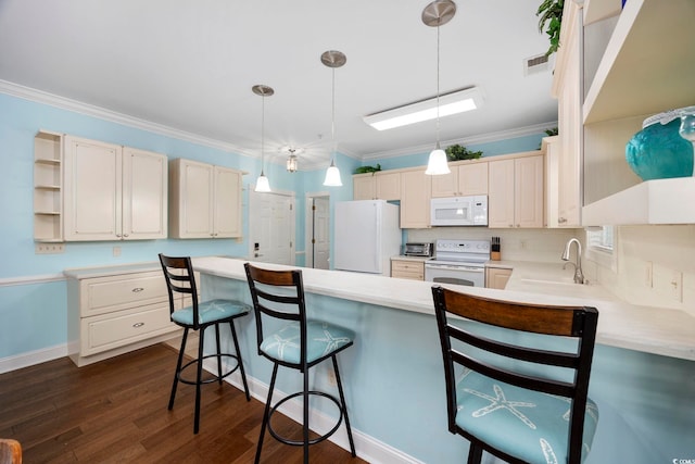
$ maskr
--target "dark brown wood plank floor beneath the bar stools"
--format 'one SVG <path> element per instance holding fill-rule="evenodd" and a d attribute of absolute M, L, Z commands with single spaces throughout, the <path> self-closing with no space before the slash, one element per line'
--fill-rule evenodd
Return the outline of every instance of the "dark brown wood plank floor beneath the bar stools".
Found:
<path fill-rule="evenodd" d="M 63 358 L 0 375 L 0 437 L 22 443 L 34 463 L 250 463 L 263 403 L 223 384 L 203 387 L 201 430 L 193 435 L 194 387 L 179 385 L 167 411 L 176 352 L 156 344 L 77 368 Z M 277 414 L 275 428 L 299 432 Z M 298 435 L 301 436 L 301 435 Z M 264 463 L 300 463 L 302 449 L 266 432 Z M 324 441 L 312 463 L 364 463 Z"/>

